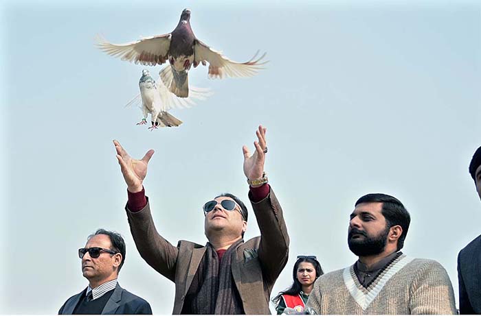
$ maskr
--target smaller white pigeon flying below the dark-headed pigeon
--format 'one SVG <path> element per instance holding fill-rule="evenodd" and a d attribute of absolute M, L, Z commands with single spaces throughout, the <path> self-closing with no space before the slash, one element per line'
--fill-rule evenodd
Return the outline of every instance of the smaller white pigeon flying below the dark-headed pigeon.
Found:
<path fill-rule="evenodd" d="M 170 71 L 170 66 L 161 72 L 167 73 Z M 142 71 L 142 77 L 139 80 L 140 94 L 135 96 L 126 106 L 139 103 L 142 100 L 142 113 L 144 117 L 137 125 L 144 125 L 147 123 L 148 114 L 150 114 L 150 121 L 152 126 L 149 130 L 155 130 L 160 127 L 172 127 L 181 125 L 182 121 L 169 114 L 167 111 L 171 108 L 190 108 L 195 104 L 194 99 L 203 100 L 212 92 L 207 88 L 191 87 L 191 94 L 187 98 L 180 98 L 171 93 L 161 80 L 155 82 L 150 72 L 146 69 Z"/>

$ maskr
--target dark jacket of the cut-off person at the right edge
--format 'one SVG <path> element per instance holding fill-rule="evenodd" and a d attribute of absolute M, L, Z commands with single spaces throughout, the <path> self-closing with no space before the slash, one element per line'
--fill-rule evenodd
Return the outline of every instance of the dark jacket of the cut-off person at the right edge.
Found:
<path fill-rule="evenodd" d="M 460 314 L 481 314 L 481 235 L 458 254 Z"/>

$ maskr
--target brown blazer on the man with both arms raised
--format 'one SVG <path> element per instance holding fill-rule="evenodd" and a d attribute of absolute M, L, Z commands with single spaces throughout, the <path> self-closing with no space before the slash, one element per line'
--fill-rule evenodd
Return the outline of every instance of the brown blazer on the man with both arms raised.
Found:
<path fill-rule="evenodd" d="M 269 297 L 274 282 L 287 263 L 289 235 L 282 208 L 272 189 L 265 199 L 251 204 L 260 236 L 238 245 L 237 260 L 232 262 L 232 276 L 244 312 L 270 314 Z M 179 241 L 177 247 L 172 246 L 155 229 L 148 202 L 139 212 L 131 212 L 127 207 L 126 211 L 135 245 L 142 258 L 159 274 L 175 282 L 172 314 L 180 314 L 205 246 L 190 241 Z"/>

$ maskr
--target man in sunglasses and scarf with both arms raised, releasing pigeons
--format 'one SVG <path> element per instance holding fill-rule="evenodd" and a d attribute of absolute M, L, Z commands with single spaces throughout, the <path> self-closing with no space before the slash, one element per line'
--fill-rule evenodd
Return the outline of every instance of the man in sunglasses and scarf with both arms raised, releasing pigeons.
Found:
<path fill-rule="evenodd" d="M 265 132 L 262 126 L 256 131 L 254 154 L 243 147 L 249 199 L 261 235 L 243 240 L 247 208 L 235 195 L 224 193 L 203 205 L 207 245 L 179 241 L 177 247 L 157 233 L 142 186 L 153 150 L 142 160 L 133 160 L 114 141 L 127 184 L 126 212 L 133 239 L 142 258 L 175 282 L 173 314 L 270 314 L 269 297 L 287 263 L 289 236 L 264 173 Z"/>

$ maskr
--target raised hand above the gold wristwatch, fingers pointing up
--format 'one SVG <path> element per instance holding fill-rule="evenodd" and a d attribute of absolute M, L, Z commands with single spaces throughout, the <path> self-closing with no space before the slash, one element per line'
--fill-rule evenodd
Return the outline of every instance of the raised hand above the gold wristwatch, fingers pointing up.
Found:
<path fill-rule="evenodd" d="M 265 132 L 267 128 L 259 125 L 256 135 L 258 141 L 254 141 L 256 151 L 251 155 L 247 146 L 242 147 L 244 153 L 244 174 L 249 180 L 262 178 L 264 172 L 265 153 L 267 152 L 267 143 L 265 141 Z"/>

